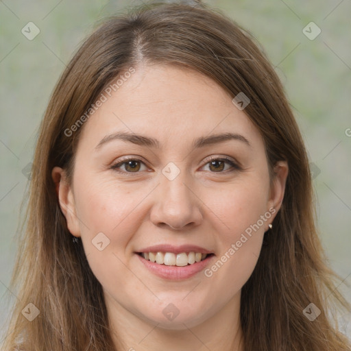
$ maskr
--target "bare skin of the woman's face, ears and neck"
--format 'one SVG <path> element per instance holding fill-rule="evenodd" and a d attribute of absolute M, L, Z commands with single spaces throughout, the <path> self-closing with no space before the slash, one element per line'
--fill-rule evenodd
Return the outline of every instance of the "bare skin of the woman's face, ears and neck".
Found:
<path fill-rule="evenodd" d="M 243 350 L 239 322 L 241 288 L 250 278 L 268 230 L 282 203 L 288 166 L 280 161 L 269 183 L 263 138 L 232 97 L 208 77 L 171 65 L 140 65 L 93 114 L 80 136 L 73 180 L 55 167 L 67 226 L 81 237 L 88 263 L 106 298 L 114 341 L 123 350 Z M 113 140 L 114 132 L 156 138 L 160 149 Z M 193 139 L 225 132 L 245 136 L 192 149 Z M 122 156 L 141 158 L 137 171 L 111 165 Z M 209 156 L 241 164 L 211 167 Z M 180 173 L 169 180 L 162 169 Z M 134 163 L 135 168 L 135 163 Z M 129 173 L 128 173 L 129 171 Z M 261 215 L 276 210 L 252 237 L 207 277 L 185 280 L 152 274 L 134 254 L 149 245 L 205 247 L 221 258 Z M 103 232 L 99 251 L 91 242 Z M 170 303 L 180 312 L 162 313 Z M 118 334 L 118 338 L 117 338 Z"/>

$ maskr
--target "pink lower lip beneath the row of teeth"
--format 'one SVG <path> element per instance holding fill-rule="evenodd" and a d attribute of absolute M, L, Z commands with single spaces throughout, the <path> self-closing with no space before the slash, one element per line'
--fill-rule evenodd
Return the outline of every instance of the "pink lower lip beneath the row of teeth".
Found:
<path fill-rule="evenodd" d="M 202 271 L 212 260 L 214 255 L 207 256 L 204 261 L 195 262 L 192 265 L 187 266 L 167 266 L 167 265 L 159 265 L 158 263 L 154 263 L 148 260 L 145 260 L 141 255 L 136 254 L 138 258 L 141 260 L 143 265 L 152 271 L 152 273 L 156 274 L 160 278 L 171 279 L 171 280 L 182 280 L 190 278 L 191 276 L 195 276 L 195 274 Z"/>

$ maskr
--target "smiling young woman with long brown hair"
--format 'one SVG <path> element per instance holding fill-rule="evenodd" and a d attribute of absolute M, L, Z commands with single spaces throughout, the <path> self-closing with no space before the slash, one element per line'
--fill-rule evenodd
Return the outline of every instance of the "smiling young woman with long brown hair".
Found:
<path fill-rule="evenodd" d="M 350 350 L 313 211 L 250 34 L 202 4 L 112 18 L 41 125 L 5 350 Z"/>

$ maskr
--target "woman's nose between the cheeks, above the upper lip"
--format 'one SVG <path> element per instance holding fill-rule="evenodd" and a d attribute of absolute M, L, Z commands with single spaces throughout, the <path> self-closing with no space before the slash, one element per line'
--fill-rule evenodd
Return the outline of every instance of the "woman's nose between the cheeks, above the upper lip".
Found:
<path fill-rule="evenodd" d="M 202 221 L 202 202 L 193 186 L 185 183 L 180 174 L 173 180 L 162 175 L 155 189 L 155 202 L 150 219 L 155 226 L 169 226 L 174 230 L 198 226 Z M 188 182 L 189 183 L 189 182 Z"/>

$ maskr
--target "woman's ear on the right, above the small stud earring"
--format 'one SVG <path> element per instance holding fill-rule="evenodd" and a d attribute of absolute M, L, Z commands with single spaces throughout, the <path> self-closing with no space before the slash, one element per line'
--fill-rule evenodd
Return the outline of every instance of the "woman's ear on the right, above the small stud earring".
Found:
<path fill-rule="evenodd" d="M 284 198 L 285 194 L 285 185 L 287 183 L 288 173 L 289 167 L 287 161 L 278 161 L 274 166 L 274 175 L 271 182 L 268 208 L 275 208 L 276 213 L 278 213 L 280 207 L 282 206 L 282 199 Z M 274 215 L 274 217 L 275 216 L 276 215 Z"/>

